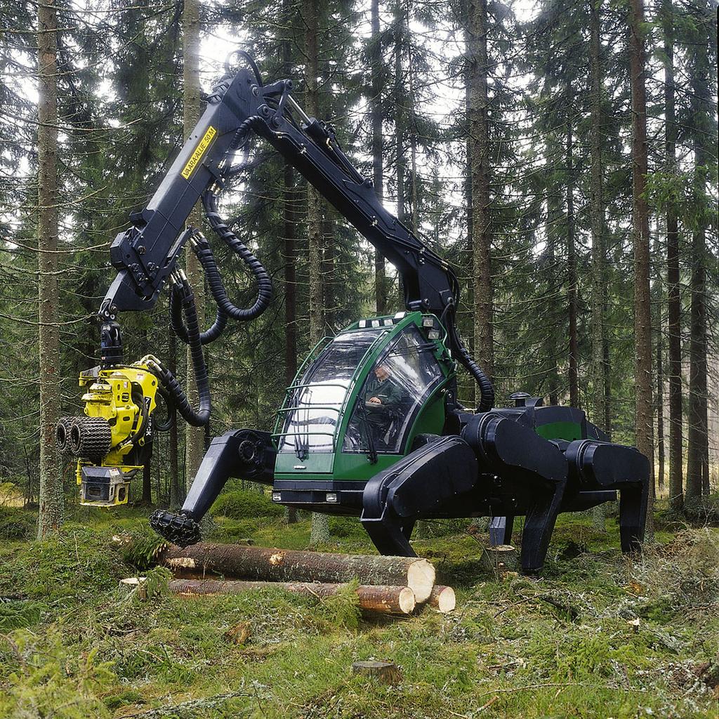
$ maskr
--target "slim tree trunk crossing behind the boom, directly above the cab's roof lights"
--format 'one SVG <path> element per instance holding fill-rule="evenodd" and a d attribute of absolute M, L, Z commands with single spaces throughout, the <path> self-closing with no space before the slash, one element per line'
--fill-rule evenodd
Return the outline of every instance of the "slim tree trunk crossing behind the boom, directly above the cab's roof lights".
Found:
<path fill-rule="evenodd" d="M 383 176 L 383 138 L 382 138 L 382 48 L 380 47 L 380 0 L 372 0 L 370 8 L 372 25 L 372 53 L 370 72 L 372 74 L 372 96 L 370 114 L 372 115 L 372 182 L 375 194 L 384 198 Z M 388 312 L 387 286 L 385 282 L 385 257 L 375 248 L 375 307 L 377 314 Z"/>

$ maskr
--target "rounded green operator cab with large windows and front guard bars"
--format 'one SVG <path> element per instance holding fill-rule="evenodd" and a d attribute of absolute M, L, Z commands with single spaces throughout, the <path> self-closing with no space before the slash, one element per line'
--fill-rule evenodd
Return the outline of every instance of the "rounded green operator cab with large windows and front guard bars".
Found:
<path fill-rule="evenodd" d="M 445 340 L 439 319 L 421 312 L 363 319 L 322 340 L 278 412 L 273 500 L 357 514 L 370 477 L 418 436 L 442 434 L 456 384 Z"/>

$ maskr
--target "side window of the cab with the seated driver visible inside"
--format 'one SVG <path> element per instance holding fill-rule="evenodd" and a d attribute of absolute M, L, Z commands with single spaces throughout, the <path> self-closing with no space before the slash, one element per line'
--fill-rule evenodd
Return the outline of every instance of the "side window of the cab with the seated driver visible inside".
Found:
<path fill-rule="evenodd" d="M 380 355 L 357 396 L 343 452 L 402 452 L 423 403 L 444 378 L 435 349 L 411 325 Z"/>

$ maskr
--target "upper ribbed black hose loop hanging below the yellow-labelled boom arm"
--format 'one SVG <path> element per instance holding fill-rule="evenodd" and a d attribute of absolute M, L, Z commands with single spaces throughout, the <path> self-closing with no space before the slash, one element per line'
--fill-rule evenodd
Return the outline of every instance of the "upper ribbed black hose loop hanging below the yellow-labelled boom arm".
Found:
<path fill-rule="evenodd" d="M 195 252 L 200 260 L 205 274 L 207 277 L 207 283 L 210 287 L 212 296 L 214 297 L 217 306 L 227 316 L 232 317 L 236 320 L 249 320 L 255 319 L 260 316 L 262 312 L 267 309 L 270 304 L 270 298 L 272 296 L 272 280 L 270 275 L 267 274 L 267 270 L 262 266 L 260 260 L 247 249 L 247 247 L 239 240 L 236 234 L 229 229 L 226 222 L 221 218 L 217 211 L 217 196 L 212 191 L 206 191 L 202 196 L 202 203 L 205 208 L 205 214 L 210 223 L 210 226 L 214 232 L 232 249 L 237 255 L 242 258 L 242 261 L 249 267 L 250 272 L 255 275 L 257 280 L 257 299 L 255 303 L 248 308 L 239 308 L 229 300 L 220 277 L 217 264 L 210 249 L 209 243 L 205 239 L 202 242 L 201 238 L 196 241 Z"/>

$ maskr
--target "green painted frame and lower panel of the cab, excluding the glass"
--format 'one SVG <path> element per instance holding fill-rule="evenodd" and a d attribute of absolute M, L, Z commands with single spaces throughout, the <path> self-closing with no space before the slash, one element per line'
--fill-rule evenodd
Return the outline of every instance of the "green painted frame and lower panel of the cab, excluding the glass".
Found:
<path fill-rule="evenodd" d="M 377 462 L 372 463 L 368 458 L 367 452 L 343 452 L 342 445 L 344 443 L 344 436 L 347 432 L 347 428 L 352 416 L 352 410 L 354 409 L 355 403 L 359 393 L 362 392 L 362 388 L 365 384 L 365 379 L 370 372 L 372 372 L 375 362 L 385 352 L 385 349 L 394 342 L 395 338 L 402 334 L 408 326 L 414 325 L 420 329 L 420 331 L 426 331 L 422 329 L 423 318 L 431 317 L 439 325 L 439 320 L 434 316 L 423 315 L 420 312 L 407 313 L 405 316 L 395 317 L 380 317 L 364 321 L 358 321 L 349 327 L 345 328 L 338 334 L 338 337 L 342 334 L 352 331 L 362 331 L 362 322 L 375 324 L 374 328 L 370 324 L 367 326 L 368 330 L 371 329 L 385 329 L 386 332 L 380 333 L 377 340 L 367 350 L 365 356 L 357 365 L 354 375 L 349 380 L 349 391 L 344 398 L 342 405 L 342 411 L 340 412 L 339 421 L 334 431 L 334 439 L 332 442 L 334 451 L 329 452 L 318 452 L 308 451 L 306 457 L 300 459 L 296 452 L 278 452 L 277 459 L 275 460 L 275 479 L 278 480 L 339 480 L 339 481 L 362 481 L 369 480 L 370 477 L 381 472 L 388 467 L 391 467 L 395 462 L 401 459 L 406 452 L 411 448 L 411 444 L 418 434 L 440 434 L 442 427 L 444 426 L 444 395 L 446 393 L 446 386 L 452 381 L 456 372 L 456 365 L 452 360 L 449 350 L 443 342 L 444 331 L 441 332 L 441 339 L 426 339 L 426 342 L 434 343 L 435 349 L 432 354 L 436 359 L 437 365 L 441 367 L 442 379 L 434 387 L 427 398 L 423 406 L 419 409 L 418 414 L 413 421 L 411 428 L 409 428 L 406 438 L 403 444 L 403 452 L 397 453 L 378 453 Z M 440 326 L 441 327 L 441 326 Z M 321 359 L 324 347 L 329 342 L 325 341 L 318 344 L 317 347 L 311 352 L 311 356 L 303 362 L 301 369 L 298 371 L 293 385 L 288 388 L 285 395 L 285 403 L 283 408 L 278 413 L 278 419 L 275 423 L 275 436 L 280 438 L 283 430 L 285 421 L 285 408 L 288 406 L 288 400 L 292 395 L 293 388 L 301 385 L 302 377 L 306 377 L 306 373 L 311 370 L 314 362 Z M 319 351 L 318 351 L 319 350 Z M 314 356 L 313 356 L 314 355 Z M 279 443 L 278 443 L 279 444 Z M 302 467 L 302 469 L 300 468 Z"/>

